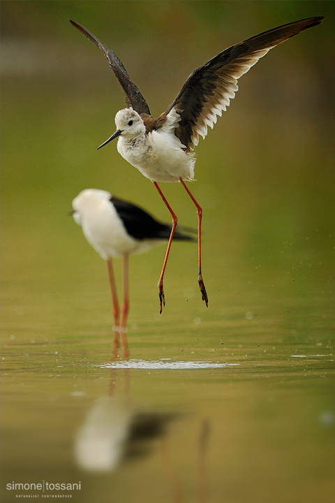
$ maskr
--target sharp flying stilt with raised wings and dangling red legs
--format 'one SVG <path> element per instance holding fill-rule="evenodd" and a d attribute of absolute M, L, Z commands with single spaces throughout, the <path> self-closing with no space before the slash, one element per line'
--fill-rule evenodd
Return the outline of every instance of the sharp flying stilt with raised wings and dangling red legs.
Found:
<path fill-rule="evenodd" d="M 117 131 L 98 148 L 119 137 L 118 152 L 126 161 L 140 170 L 145 177 L 154 182 L 172 215 L 170 240 L 158 282 L 161 312 L 162 303 L 165 305 L 163 275 L 174 229 L 177 226 L 177 217 L 163 196 L 157 182 L 181 182 L 197 208 L 198 281 L 202 300 L 208 305 L 201 270 L 202 207 L 195 201 L 185 184 L 185 180 L 192 181 L 194 177 L 195 154 L 192 151 L 198 145 L 199 135 L 202 138 L 207 135 L 207 126 L 211 128 L 214 126 L 216 116 L 222 115 L 222 110 L 226 110 L 230 99 L 234 98 L 238 89 L 237 79 L 257 63 L 258 59 L 265 56 L 270 49 L 305 29 L 317 26 L 324 19 L 325 17 L 321 16 L 310 17 L 284 24 L 220 52 L 191 73 L 173 103 L 157 118 L 150 114 L 147 102 L 116 54 L 86 28 L 70 20 L 75 28 L 103 50 L 110 67 L 124 89 L 128 105 L 128 108 L 117 112 L 115 117 Z"/>

